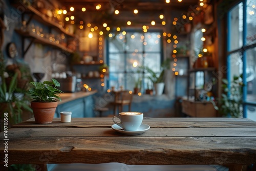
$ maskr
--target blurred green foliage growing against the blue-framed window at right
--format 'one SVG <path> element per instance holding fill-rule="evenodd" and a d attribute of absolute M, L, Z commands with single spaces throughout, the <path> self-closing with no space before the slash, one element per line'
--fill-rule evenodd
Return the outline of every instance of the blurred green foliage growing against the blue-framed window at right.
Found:
<path fill-rule="evenodd" d="M 233 80 L 230 82 L 230 87 L 228 87 L 228 80 L 222 79 L 222 89 L 224 93 L 220 99 L 220 112 L 223 116 L 231 117 L 242 117 L 242 90 L 243 83 L 241 81 L 241 76 L 233 76 Z"/>

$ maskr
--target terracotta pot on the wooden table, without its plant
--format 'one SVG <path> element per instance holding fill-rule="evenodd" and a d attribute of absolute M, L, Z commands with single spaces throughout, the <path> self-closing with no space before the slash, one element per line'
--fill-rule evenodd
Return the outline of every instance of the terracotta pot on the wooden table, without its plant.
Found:
<path fill-rule="evenodd" d="M 58 102 L 31 102 L 31 108 L 38 124 L 52 123 Z"/>

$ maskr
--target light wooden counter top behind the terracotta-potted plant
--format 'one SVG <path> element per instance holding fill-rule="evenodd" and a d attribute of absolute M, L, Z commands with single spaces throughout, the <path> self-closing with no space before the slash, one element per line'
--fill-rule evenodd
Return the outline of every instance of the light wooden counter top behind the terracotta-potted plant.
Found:
<path fill-rule="evenodd" d="M 76 100 L 82 97 L 87 97 L 97 93 L 97 90 L 89 91 L 89 92 L 75 92 L 75 93 L 61 93 L 59 97 L 61 101 L 58 101 L 58 104 L 67 103 L 72 100 Z"/>

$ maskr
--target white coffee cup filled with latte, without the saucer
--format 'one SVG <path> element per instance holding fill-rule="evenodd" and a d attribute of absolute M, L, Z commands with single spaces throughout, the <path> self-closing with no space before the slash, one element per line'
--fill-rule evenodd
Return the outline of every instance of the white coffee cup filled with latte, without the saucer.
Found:
<path fill-rule="evenodd" d="M 119 118 L 120 122 L 116 122 L 115 118 Z M 119 116 L 113 117 L 113 122 L 122 127 L 125 131 L 137 131 L 143 120 L 141 112 L 121 112 Z"/>

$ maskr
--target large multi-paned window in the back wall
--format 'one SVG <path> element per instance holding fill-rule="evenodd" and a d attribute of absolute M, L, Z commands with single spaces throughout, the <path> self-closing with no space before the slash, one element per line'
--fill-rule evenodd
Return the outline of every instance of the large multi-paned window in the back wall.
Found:
<path fill-rule="evenodd" d="M 147 83 L 153 87 L 138 68 L 147 66 L 156 72 L 160 71 L 163 58 L 160 31 L 119 33 L 109 38 L 107 47 L 106 58 L 110 69 L 108 87 L 118 89 L 123 86 L 126 90 L 133 90 L 139 79 L 143 90 L 147 88 Z"/>

